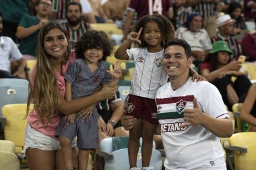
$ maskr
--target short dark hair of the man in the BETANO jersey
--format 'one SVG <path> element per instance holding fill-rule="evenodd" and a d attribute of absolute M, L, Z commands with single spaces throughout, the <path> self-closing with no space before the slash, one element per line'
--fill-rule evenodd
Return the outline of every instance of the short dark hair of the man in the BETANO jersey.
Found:
<path fill-rule="evenodd" d="M 179 38 L 172 38 L 164 43 L 164 51 L 168 46 L 182 46 L 184 48 L 185 54 L 187 58 L 192 56 L 191 47 L 189 44 L 182 39 Z"/>

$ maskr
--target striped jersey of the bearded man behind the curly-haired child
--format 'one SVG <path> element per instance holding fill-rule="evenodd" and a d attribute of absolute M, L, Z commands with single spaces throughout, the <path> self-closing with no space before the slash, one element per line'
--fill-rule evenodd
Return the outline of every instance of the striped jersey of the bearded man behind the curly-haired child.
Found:
<path fill-rule="evenodd" d="M 79 41 L 80 37 L 90 30 L 90 24 L 85 21 L 81 21 L 80 27 L 77 30 L 73 30 L 68 23 L 63 24 L 65 30 L 67 31 L 67 36 L 69 37 L 69 45 L 71 49 L 75 48 L 75 43 Z"/>

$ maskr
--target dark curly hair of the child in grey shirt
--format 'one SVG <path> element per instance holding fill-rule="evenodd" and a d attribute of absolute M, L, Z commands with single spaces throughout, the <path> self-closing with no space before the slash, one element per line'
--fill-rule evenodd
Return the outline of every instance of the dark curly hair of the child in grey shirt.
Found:
<path fill-rule="evenodd" d="M 84 58 L 84 52 L 92 48 L 101 48 L 103 57 L 101 60 L 106 60 L 113 50 L 113 45 L 106 33 L 97 30 L 89 30 L 85 32 L 80 40 L 75 44 L 75 53 L 77 58 Z"/>

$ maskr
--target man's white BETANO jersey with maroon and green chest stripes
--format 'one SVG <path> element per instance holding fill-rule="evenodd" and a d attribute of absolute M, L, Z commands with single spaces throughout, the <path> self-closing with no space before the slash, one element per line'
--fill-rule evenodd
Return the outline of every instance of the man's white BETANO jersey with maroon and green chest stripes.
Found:
<path fill-rule="evenodd" d="M 228 113 L 218 89 L 207 81 L 191 78 L 175 91 L 170 83 L 156 93 L 158 120 L 166 153 L 166 169 L 199 169 L 224 157 L 220 138 L 201 125 L 180 128 L 184 110 L 193 108 L 193 99 L 201 110 L 213 118 L 226 118 Z M 191 161 L 193 160 L 193 161 Z"/>

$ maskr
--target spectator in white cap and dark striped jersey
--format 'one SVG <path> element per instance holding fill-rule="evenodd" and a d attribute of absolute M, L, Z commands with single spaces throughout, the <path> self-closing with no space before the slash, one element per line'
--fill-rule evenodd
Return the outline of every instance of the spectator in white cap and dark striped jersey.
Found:
<path fill-rule="evenodd" d="M 230 50 L 233 52 L 231 59 L 238 58 L 242 52 L 241 44 L 237 41 L 236 36 L 234 35 L 235 21 L 236 20 L 232 19 L 228 14 L 218 17 L 216 24 L 219 31 L 217 32 L 216 36 L 212 38 L 212 43 L 220 40 L 228 43 Z"/>

